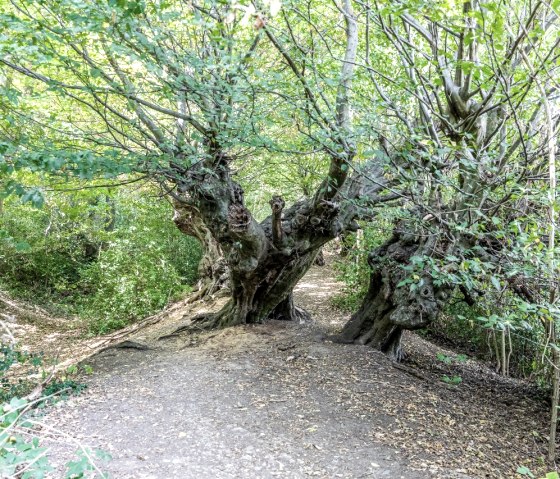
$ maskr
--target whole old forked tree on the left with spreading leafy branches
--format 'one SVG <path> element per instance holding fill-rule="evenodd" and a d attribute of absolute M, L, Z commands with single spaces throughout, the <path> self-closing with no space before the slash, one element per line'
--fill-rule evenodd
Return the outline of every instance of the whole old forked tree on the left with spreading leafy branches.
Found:
<path fill-rule="evenodd" d="M 299 12 L 288 7 L 283 19 L 274 16 L 272 3 L 261 11 L 212 0 L 18 1 L 2 17 L 29 47 L 4 46 L 0 62 L 58 99 L 67 117 L 68 130 L 57 134 L 68 138 L 74 159 L 60 172 L 79 169 L 84 149 L 93 158 L 118 155 L 161 185 L 177 226 L 204 245 L 201 292 L 227 283 L 231 296 L 223 311 L 200 320 L 207 327 L 301 316 L 292 288 L 321 246 L 357 227 L 345 183 L 356 154 L 358 22 L 350 0 L 334 11 L 309 7 L 327 15 L 336 37 L 331 45 L 313 36 L 321 51 L 331 49 L 321 85 L 309 69 L 318 59 L 306 60 L 297 40 L 309 24 L 298 26 Z M 329 166 L 316 191 L 290 206 L 271 198 L 271 214 L 257 221 L 235 168 L 274 150 L 267 102 L 280 105 L 278 98 Z"/>

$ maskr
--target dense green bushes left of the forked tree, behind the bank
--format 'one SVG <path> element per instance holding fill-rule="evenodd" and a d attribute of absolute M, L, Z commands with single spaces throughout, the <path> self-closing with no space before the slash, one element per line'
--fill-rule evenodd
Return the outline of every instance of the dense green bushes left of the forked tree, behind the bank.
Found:
<path fill-rule="evenodd" d="M 161 309 L 196 281 L 201 250 L 153 193 L 129 187 L 49 194 L 41 209 L 5 200 L 0 286 L 86 318 L 96 334 Z"/>

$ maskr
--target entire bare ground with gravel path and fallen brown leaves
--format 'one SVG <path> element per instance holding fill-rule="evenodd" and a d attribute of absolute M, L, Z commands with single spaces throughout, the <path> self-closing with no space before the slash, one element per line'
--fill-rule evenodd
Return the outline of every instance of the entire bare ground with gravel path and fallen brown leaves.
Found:
<path fill-rule="evenodd" d="M 35 321 L 22 340 L 47 353 L 58 344 L 62 362 L 71 350 L 101 349 L 87 360 L 86 392 L 51 408 L 45 427 L 110 453 L 101 468 L 118 479 L 511 478 L 521 465 L 547 469 L 548 406 L 529 385 L 472 359 L 439 361 L 456 355 L 414 334 L 401 364 L 325 340 L 348 319 L 330 302 L 340 287 L 329 267 L 313 267 L 295 292 L 311 322 L 196 336 L 174 330 L 219 301 L 175 305 L 120 344 L 123 334 L 41 339 Z M 50 444 L 55 464 L 71 458 L 72 441 Z"/>

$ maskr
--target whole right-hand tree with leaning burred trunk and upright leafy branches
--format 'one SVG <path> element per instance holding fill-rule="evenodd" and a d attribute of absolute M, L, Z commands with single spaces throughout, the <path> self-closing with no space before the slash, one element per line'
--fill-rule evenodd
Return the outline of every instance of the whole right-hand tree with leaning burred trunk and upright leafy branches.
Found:
<path fill-rule="evenodd" d="M 399 358 L 402 331 L 430 324 L 455 291 L 473 304 L 489 284 L 538 302 L 542 271 L 525 264 L 520 272 L 527 258 L 504 230 L 521 233 L 530 214 L 547 230 L 545 205 L 522 192 L 548 181 L 542 93 L 556 91 L 558 39 L 549 32 L 557 16 L 539 2 L 511 7 L 506 15 L 466 1 L 445 19 L 423 7 L 370 12 L 370 31 L 391 45 L 398 65 L 389 64 L 407 78 L 403 101 L 389 71 L 365 59 L 396 119 L 379 154 L 393 165 L 403 208 L 392 237 L 369 256 L 369 291 L 339 340 Z"/>

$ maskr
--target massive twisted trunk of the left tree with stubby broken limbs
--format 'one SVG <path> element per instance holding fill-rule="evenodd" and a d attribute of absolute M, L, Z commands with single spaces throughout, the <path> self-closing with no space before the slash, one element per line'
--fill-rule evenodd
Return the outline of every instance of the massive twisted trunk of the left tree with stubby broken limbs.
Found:
<path fill-rule="evenodd" d="M 221 311 L 193 318 L 193 330 L 270 317 L 304 318 L 293 304 L 292 290 L 325 243 L 358 228 L 352 204 L 341 208 L 338 198 L 320 197 L 284 209 L 284 200 L 275 196 L 272 214 L 257 222 L 244 204 L 243 189 L 231 178 L 229 160 L 218 152 L 214 161 L 223 166 L 212 173 L 202 164 L 186 172 L 179 187 L 189 196 L 176 205 L 176 223 L 197 235 L 207 253 L 219 253 L 209 255 L 213 267 L 224 258 L 231 299 Z"/>

